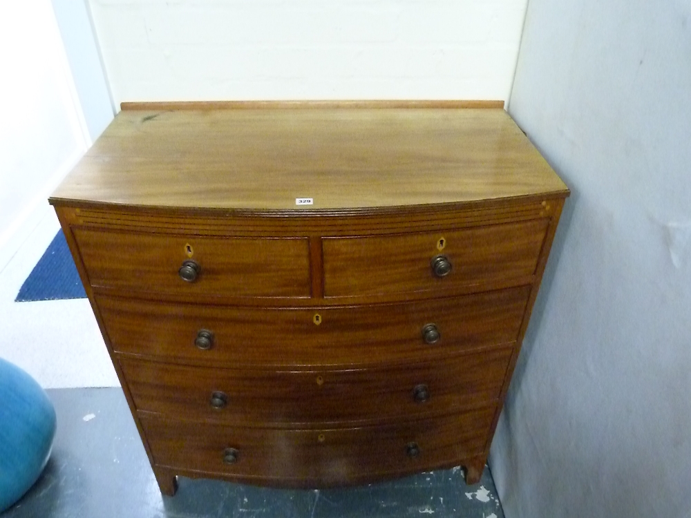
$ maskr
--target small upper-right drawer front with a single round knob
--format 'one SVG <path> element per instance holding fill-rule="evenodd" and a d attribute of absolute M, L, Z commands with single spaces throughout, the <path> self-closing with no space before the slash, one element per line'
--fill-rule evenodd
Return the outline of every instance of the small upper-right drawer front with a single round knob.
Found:
<path fill-rule="evenodd" d="M 535 273 L 548 223 L 541 219 L 439 233 L 325 238 L 324 295 L 376 296 L 522 280 Z M 433 271 L 437 256 L 451 263 L 446 276 Z"/>

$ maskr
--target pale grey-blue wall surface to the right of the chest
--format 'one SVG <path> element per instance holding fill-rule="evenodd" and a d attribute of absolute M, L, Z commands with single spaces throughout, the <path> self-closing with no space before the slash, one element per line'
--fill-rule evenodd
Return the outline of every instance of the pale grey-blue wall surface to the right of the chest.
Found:
<path fill-rule="evenodd" d="M 508 518 L 691 516 L 691 3 L 531 0 L 509 112 L 573 195 L 491 463 Z"/>

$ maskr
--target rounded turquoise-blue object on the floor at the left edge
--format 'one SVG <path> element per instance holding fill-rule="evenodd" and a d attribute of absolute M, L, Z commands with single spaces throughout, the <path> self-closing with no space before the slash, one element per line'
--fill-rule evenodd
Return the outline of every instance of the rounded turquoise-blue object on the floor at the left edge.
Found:
<path fill-rule="evenodd" d="M 0 358 L 0 512 L 37 481 L 55 437 L 55 408 L 34 378 Z"/>

